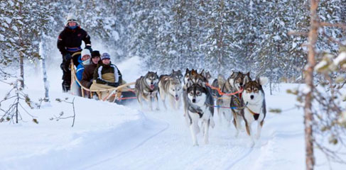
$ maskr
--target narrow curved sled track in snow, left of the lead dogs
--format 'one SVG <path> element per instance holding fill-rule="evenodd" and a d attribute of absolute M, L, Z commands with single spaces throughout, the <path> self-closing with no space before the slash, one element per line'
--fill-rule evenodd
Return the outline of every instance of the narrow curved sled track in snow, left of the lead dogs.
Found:
<path fill-rule="evenodd" d="M 122 156 L 122 155 L 124 155 L 124 154 L 127 154 L 127 153 L 129 153 L 129 152 L 134 151 L 135 149 L 141 147 L 141 146 L 144 145 L 146 142 L 148 142 L 148 140 L 151 140 L 151 139 L 153 139 L 154 137 L 156 137 L 157 135 L 160 135 L 162 132 L 168 130 L 168 128 L 170 127 L 170 124 L 167 123 L 166 121 L 165 121 L 165 123 L 166 123 L 166 127 L 165 127 L 165 128 L 163 128 L 162 130 L 156 132 L 155 134 L 151 135 L 150 137 L 146 138 L 145 140 L 143 140 L 142 142 L 140 142 L 140 143 L 139 143 L 138 145 L 136 145 L 135 147 L 132 147 L 131 149 L 126 150 L 125 152 L 121 152 L 121 153 L 115 155 L 114 157 L 109 157 L 109 158 L 107 158 L 107 159 L 104 159 L 104 160 L 102 160 L 102 161 L 96 162 L 96 163 L 91 164 L 91 165 L 89 165 L 89 166 L 85 166 L 85 167 L 83 167 L 82 169 L 90 169 L 90 168 L 92 168 L 92 167 L 94 167 L 94 166 L 97 166 L 97 165 L 102 164 L 102 163 L 104 163 L 104 162 L 109 162 L 109 161 L 111 161 L 112 159 L 116 159 L 117 157 L 120 157 L 120 156 Z"/>

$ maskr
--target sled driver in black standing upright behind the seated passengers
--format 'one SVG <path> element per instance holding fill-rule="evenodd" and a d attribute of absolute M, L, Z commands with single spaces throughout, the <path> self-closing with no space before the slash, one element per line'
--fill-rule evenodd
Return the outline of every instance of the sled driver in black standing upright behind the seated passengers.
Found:
<path fill-rule="evenodd" d="M 63 63 L 60 64 L 60 68 L 63 69 L 63 91 L 70 91 L 71 84 L 71 72 L 70 72 L 70 60 L 77 66 L 79 55 L 72 57 L 75 52 L 82 51 L 80 45 L 82 41 L 85 42 L 85 48 L 92 52 L 90 36 L 85 30 L 80 28 L 80 24 L 77 22 L 77 18 L 73 15 L 67 17 L 64 30 L 58 37 L 58 49 L 63 55 Z"/>

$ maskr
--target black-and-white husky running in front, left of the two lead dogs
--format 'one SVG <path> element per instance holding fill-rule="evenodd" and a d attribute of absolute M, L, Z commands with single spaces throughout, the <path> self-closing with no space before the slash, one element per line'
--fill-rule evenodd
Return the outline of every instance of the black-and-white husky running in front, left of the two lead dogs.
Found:
<path fill-rule="evenodd" d="M 204 135 L 205 144 L 209 143 L 209 127 L 214 128 L 215 123 L 213 120 L 214 101 L 210 89 L 200 84 L 193 83 L 191 79 L 188 79 L 188 89 L 185 91 L 187 96 L 187 108 L 188 108 L 188 123 L 190 125 L 191 135 L 193 137 L 193 145 L 198 145 L 196 135 L 200 132 L 198 122 L 202 121 L 202 132 Z"/>

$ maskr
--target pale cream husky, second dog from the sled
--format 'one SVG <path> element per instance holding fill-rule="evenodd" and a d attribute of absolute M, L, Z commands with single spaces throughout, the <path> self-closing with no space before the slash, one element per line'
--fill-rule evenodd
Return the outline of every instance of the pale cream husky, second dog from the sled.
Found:
<path fill-rule="evenodd" d="M 171 76 L 160 76 L 160 80 L 158 81 L 158 89 L 161 100 L 163 102 L 163 106 L 166 109 L 166 96 L 168 96 L 172 108 L 180 108 L 182 87 L 179 79 Z"/>

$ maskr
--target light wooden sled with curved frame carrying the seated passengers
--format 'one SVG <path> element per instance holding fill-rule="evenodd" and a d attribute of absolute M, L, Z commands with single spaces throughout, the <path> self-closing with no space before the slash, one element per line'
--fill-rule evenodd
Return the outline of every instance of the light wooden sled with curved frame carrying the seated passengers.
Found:
<path fill-rule="evenodd" d="M 73 53 L 72 57 L 74 57 L 75 55 L 80 55 L 80 53 L 81 52 L 75 52 Z M 121 84 L 120 86 L 114 87 L 112 89 L 90 90 L 90 89 L 87 89 L 85 86 L 83 86 L 80 83 L 80 81 L 77 79 L 76 68 L 72 59 L 70 62 L 70 69 L 71 69 L 71 87 L 73 83 L 77 82 L 77 84 L 80 85 L 80 91 L 81 91 L 82 97 L 85 97 L 85 91 L 89 91 L 90 98 L 92 98 L 94 94 L 97 94 L 97 96 L 99 97 L 99 100 L 102 100 L 102 101 L 109 101 L 109 98 L 114 97 L 114 100 L 112 102 L 119 103 L 119 104 L 124 104 L 125 101 L 128 99 L 136 98 L 136 92 L 134 88 L 130 87 L 134 85 L 135 82 Z M 104 92 L 104 91 L 107 92 L 107 96 L 104 98 L 101 98 L 101 92 Z"/>

